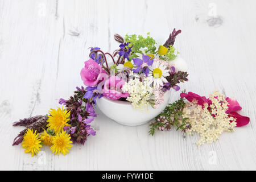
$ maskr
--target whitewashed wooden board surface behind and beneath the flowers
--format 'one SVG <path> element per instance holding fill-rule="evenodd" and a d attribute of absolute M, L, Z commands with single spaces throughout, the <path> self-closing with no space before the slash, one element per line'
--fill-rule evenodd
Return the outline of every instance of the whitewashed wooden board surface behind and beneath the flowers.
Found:
<path fill-rule="evenodd" d="M 0 169 L 256 169 L 255 7 L 253 0 L 0 0 Z M 88 47 L 112 52 L 114 33 L 148 31 L 163 44 L 174 27 L 182 30 L 175 46 L 189 65 L 181 89 L 235 96 L 249 125 L 197 147 L 196 135 L 172 130 L 151 137 L 147 124 L 122 126 L 96 110 L 97 135 L 66 156 L 43 147 L 31 158 L 11 146 L 23 129 L 14 121 L 46 114 L 82 85 Z"/>

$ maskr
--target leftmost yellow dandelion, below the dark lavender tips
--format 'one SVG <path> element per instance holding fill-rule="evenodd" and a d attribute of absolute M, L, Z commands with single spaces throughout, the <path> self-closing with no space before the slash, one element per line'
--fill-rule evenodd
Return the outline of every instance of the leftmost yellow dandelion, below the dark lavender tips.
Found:
<path fill-rule="evenodd" d="M 26 148 L 25 152 L 31 152 L 31 156 L 34 156 L 34 154 L 36 155 L 36 153 L 38 153 L 38 151 L 40 151 L 41 149 L 39 147 L 42 147 L 42 145 L 40 144 L 41 140 L 38 138 L 38 134 L 36 134 L 36 130 L 35 133 L 33 133 L 33 129 L 27 129 L 27 133 L 23 136 L 23 142 L 22 142 L 22 147 Z"/>

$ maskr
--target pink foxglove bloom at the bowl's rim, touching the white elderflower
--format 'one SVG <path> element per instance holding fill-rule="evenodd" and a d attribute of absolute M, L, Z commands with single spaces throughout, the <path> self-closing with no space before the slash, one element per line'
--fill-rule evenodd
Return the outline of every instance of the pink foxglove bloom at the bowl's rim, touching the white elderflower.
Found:
<path fill-rule="evenodd" d="M 118 100 L 121 97 L 128 97 L 129 93 L 122 92 L 125 80 L 118 76 L 111 76 L 105 81 L 103 95 L 110 100 Z"/>

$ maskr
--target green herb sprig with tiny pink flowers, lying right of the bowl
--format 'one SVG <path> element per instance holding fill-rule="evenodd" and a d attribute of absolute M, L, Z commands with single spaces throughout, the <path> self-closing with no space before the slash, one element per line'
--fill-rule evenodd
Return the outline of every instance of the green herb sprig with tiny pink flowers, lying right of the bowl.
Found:
<path fill-rule="evenodd" d="M 180 98 L 172 104 L 166 106 L 166 109 L 155 117 L 155 122 L 151 123 L 150 135 L 154 135 L 156 130 L 170 130 L 176 126 L 176 130 L 187 131 L 191 124 L 187 122 L 188 118 L 183 118 L 183 109 L 185 106 L 184 98 Z"/>

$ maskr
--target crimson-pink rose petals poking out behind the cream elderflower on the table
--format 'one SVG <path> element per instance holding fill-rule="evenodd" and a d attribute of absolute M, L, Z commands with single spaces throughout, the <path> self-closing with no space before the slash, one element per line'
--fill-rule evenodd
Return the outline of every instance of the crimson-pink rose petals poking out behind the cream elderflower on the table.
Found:
<path fill-rule="evenodd" d="M 196 99 L 197 104 L 201 106 L 204 106 L 204 103 L 208 103 L 208 105 L 212 104 L 212 101 L 210 101 L 209 98 L 201 97 L 192 92 L 181 93 L 180 97 L 185 97 L 189 102 L 192 102 L 194 99 Z M 237 100 L 226 97 L 226 101 L 229 102 L 228 110 L 226 110 L 226 113 L 229 115 L 229 117 L 236 118 L 236 123 L 238 127 L 247 125 L 250 122 L 250 118 L 240 115 L 236 112 L 242 109 L 242 107 L 238 104 Z"/>

